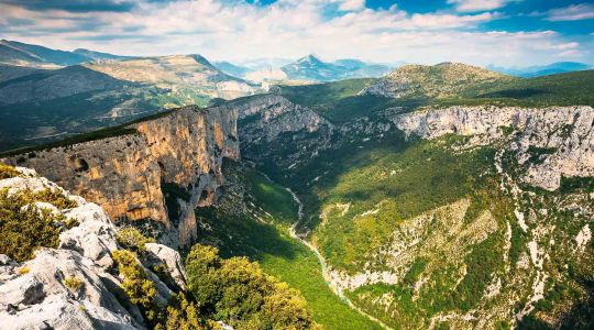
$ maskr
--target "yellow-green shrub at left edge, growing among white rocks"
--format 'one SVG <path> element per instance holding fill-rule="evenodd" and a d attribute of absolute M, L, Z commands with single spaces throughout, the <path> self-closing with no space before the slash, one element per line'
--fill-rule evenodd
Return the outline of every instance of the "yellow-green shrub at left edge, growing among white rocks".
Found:
<path fill-rule="evenodd" d="M 40 191 L 20 190 L 8 194 L 0 189 L 0 252 L 22 262 L 33 257 L 37 248 L 57 248 L 59 233 L 66 228 L 63 215 L 53 215 L 33 202 L 50 202 L 58 209 L 76 204 L 50 188 Z"/>

